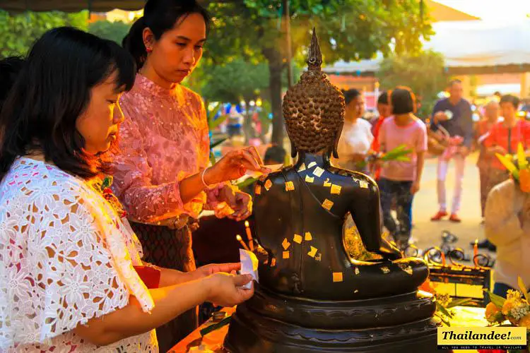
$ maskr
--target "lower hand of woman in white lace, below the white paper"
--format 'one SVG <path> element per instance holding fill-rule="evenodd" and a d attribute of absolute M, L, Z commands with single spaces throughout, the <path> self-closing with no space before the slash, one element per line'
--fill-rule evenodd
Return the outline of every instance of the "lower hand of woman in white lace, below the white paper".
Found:
<path fill-rule="evenodd" d="M 243 289 L 242 286 L 252 281 L 251 275 L 229 275 L 228 273 L 216 273 L 208 278 L 208 296 L 216 306 L 235 306 L 246 301 L 254 295 L 254 284 L 251 289 Z"/>

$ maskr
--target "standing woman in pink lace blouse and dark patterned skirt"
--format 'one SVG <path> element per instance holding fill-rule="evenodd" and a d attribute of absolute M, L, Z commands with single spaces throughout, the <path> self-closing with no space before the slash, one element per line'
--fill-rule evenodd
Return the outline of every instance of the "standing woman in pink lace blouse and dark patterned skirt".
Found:
<path fill-rule="evenodd" d="M 201 59 L 208 23 L 195 1 L 150 0 L 124 40 L 139 73 L 119 101 L 126 119 L 119 131 L 114 191 L 146 261 L 185 272 L 195 269 L 192 224 L 203 208 L 236 220 L 250 215 L 249 195 L 224 181 L 242 177 L 247 168 L 266 172 L 255 149 L 230 152 L 206 168 L 206 110 L 201 97 L 180 82 Z M 196 311 L 177 321 L 157 331 L 160 351 L 196 327 Z"/>

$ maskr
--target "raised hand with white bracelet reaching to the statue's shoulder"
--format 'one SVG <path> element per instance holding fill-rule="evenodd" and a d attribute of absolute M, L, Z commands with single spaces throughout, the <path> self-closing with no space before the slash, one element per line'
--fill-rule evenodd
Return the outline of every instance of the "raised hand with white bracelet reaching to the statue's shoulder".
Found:
<path fill-rule="evenodd" d="M 219 162 L 206 170 L 204 181 L 208 185 L 213 185 L 223 181 L 240 179 L 247 170 L 262 173 L 271 172 L 269 168 L 264 167 L 258 151 L 253 146 L 228 152 Z"/>

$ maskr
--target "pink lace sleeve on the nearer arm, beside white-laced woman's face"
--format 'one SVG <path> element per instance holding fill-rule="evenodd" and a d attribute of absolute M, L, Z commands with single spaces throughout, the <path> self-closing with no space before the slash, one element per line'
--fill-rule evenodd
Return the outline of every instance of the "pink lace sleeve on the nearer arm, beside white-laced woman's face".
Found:
<path fill-rule="evenodd" d="M 132 119 L 126 116 L 119 129 L 119 152 L 114 157 L 116 196 L 124 204 L 129 217 L 139 222 L 158 222 L 183 213 L 179 179 L 172 183 L 153 185 L 153 171 L 144 150 L 143 136 Z"/>

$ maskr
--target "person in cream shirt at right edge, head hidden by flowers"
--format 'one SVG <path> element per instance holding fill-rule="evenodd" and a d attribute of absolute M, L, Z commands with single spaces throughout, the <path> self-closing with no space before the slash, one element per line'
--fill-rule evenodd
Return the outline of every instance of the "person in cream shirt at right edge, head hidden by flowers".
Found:
<path fill-rule="evenodd" d="M 497 247 L 493 293 L 506 297 L 508 289 L 519 288 L 517 277 L 530 284 L 530 195 L 519 181 L 510 178 L 488 194 L 485 236 Z"/>

